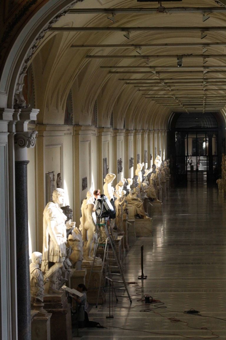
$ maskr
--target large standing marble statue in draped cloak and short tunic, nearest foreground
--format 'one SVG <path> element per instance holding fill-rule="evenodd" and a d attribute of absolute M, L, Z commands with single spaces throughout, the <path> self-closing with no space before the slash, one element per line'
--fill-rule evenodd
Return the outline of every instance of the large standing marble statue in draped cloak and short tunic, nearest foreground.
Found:
<path fill-rule="evenodd" d="M 63 203 L 64 190 L 57 188 L 53 191 L 53 202 L 48 202 L 43 212 L 43 257 L 42 271 L 49 279 L 48 293 L 57 293 L 58 271 L 63 268 L 65 261 L 67 233 L 65 221 L 67 217 L 59 207 Z M 49 262 L 54 262 L 49 267 Z"/>

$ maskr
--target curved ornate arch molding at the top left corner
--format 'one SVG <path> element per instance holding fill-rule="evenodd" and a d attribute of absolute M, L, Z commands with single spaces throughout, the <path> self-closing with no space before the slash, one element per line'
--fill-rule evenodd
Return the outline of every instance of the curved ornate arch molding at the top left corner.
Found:
<path fill-rule="evenodd" d="M 83 0 L 49 0 L 27 22 L 15 40 L 6 59 L 0 80 L 0 107 L 27 107 L 22 88 L 26 70 L 45 33 L 65 15 L 69 8 Z"/>

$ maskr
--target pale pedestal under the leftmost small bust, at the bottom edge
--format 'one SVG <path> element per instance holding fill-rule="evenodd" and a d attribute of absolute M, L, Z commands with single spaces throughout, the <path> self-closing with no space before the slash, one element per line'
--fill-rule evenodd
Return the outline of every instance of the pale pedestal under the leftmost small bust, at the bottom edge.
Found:
<path fill-rule="evenodd" d="M 52 313 L 32 318 L 32 340 L 50 340 L 50 318 Z"/>

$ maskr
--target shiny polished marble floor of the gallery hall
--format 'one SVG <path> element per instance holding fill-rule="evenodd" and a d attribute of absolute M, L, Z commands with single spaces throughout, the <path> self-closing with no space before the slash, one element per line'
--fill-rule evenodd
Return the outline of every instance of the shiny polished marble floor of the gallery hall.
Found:
<path fill-rule="evenodd" d="M 137 237 L 123 261 L 132 304 L 114 301 L 113 319 L 106 319 L 108 300 L 91 306 L 89 319 L 106 328 L 80 328 L 79 337 L 226 339 L 225 207 L 215 186 L 191 183 L 171 190 L 163 215 L 153 216 L 153 237 Z M 141 245 L 145 280 L 138 280 Z M 144 295 L 155 302 L 145 304 Z M 185 313 L 191 309 L 199 313 Z"/>

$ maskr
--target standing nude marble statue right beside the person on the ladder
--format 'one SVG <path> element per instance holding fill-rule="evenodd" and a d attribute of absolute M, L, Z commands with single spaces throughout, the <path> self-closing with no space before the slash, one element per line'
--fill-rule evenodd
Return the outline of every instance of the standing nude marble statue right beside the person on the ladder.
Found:
<path fill-rule="evenodd" d="M 92 243 L 94 242 L 95 233 L 97 231 L 96 224 L 93 219 L 94 208 L 94 195 L 91 191 L 87 192 L 87 198 L 83 200 L 81 211 L 81 226 L 82 226 L 82 239 L 83 245 L 83 257 L 84 260 L 93 260 L 91 257 Z"/>

